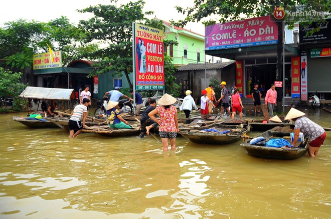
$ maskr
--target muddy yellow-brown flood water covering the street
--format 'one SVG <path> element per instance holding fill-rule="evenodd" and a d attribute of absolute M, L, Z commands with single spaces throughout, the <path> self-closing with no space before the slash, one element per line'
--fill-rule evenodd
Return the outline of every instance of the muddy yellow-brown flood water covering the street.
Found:
<path fill-rule="evenodd" d="M 331 127 L 328 112 L 306 112 Z M 248 156 L 241 140 L 178 137 L 162 152 L 152 136 L 69 139 L 13 115 L 26 113 L 0 114 L 0 218 L 331 218 L 331 131 L 315 158 L 272 160 Z"/>

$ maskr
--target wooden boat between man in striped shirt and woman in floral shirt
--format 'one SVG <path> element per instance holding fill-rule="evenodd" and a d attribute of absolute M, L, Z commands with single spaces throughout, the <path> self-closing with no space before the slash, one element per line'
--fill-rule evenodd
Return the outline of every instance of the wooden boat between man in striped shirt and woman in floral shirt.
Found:
<path fill-rule="evenodd" d="M 94 125 L 84 127 L 83 132 L 96 133 L 107 137 L 130 136 L 138 135 L 140 133 L 140 124 L 132 124 L 132 128 L 113 128 L 108 125 Z"/>

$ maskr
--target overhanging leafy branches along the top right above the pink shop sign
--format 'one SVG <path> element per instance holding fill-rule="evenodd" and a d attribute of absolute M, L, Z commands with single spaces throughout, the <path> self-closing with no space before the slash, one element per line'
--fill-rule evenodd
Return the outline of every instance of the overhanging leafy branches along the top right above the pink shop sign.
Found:
<path fill-rule="evenodd" d="M 187 17 L 179 20 L 176 25 L 184 26 L 190 21 L 203 21 L 207 26 L 217 22 L 224 23 L 233 20 L 242 20 L 272 14 L 274 5 L 284 6 L 287 11 L 312 11 L 323 8 L 325 12 L 331 12 L 329 0 L 195 0 L 193 6 L 183 8 L 177 6 L 177 10 Z M 322 7 L 319 7 L 322 5 Z M 294 16 L 285 16 L 289 26 L 302 21 L 305 14 L 297 13 Z M 320 16 L 310 13 L 307 21 L 320 20 Z"/>

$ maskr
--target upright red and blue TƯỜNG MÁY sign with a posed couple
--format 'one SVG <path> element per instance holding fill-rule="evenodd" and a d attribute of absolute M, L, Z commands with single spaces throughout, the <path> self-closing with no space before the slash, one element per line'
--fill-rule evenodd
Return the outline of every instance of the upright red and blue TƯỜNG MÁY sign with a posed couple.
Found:
<path fill-rule="evenodd" d="M 134 23 L 136 89 L 164 89 L 163 31 Z"/>

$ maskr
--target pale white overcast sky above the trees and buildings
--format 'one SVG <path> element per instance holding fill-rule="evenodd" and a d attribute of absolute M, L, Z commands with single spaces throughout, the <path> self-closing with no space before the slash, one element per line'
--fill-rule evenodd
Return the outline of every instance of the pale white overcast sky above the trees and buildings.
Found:
<path fill-rule="evenodd" d="M 130 0 L 117 0 L 116 4 L 126 4 Z M 135 1 L 135 0 L 131 0 Z M 178 21 L 185 18 L 182 13 L 178 13 L 175 6 L 192 6 L 194 0 L 144 0 L 144 11 L 154 11 L 154 15 L 146 16 L 169 21 L 171 19 Z M 163 3 L 161 3 L 163 2 Z M 90 5 L 97 4 L 114 4 L 109 0 L 48 0 L 48 1 L 29 1 L 29 0 L 2 0 L 0 10 L 0 26 L 4 27 L 4 23 L 14 21 L 20 18 L 26 20 L 36 20 L 47 22 L 61 16 L 67 16 L 70 22 L 77 24 L 81 19 L 88 19 L 91 15 L 87 13 L 79 13 L 77 9 L 83 9 Z M 190 23 L 185 26 L 193 32 L 204 35 L 205 28 L 202 23 Z"/>

